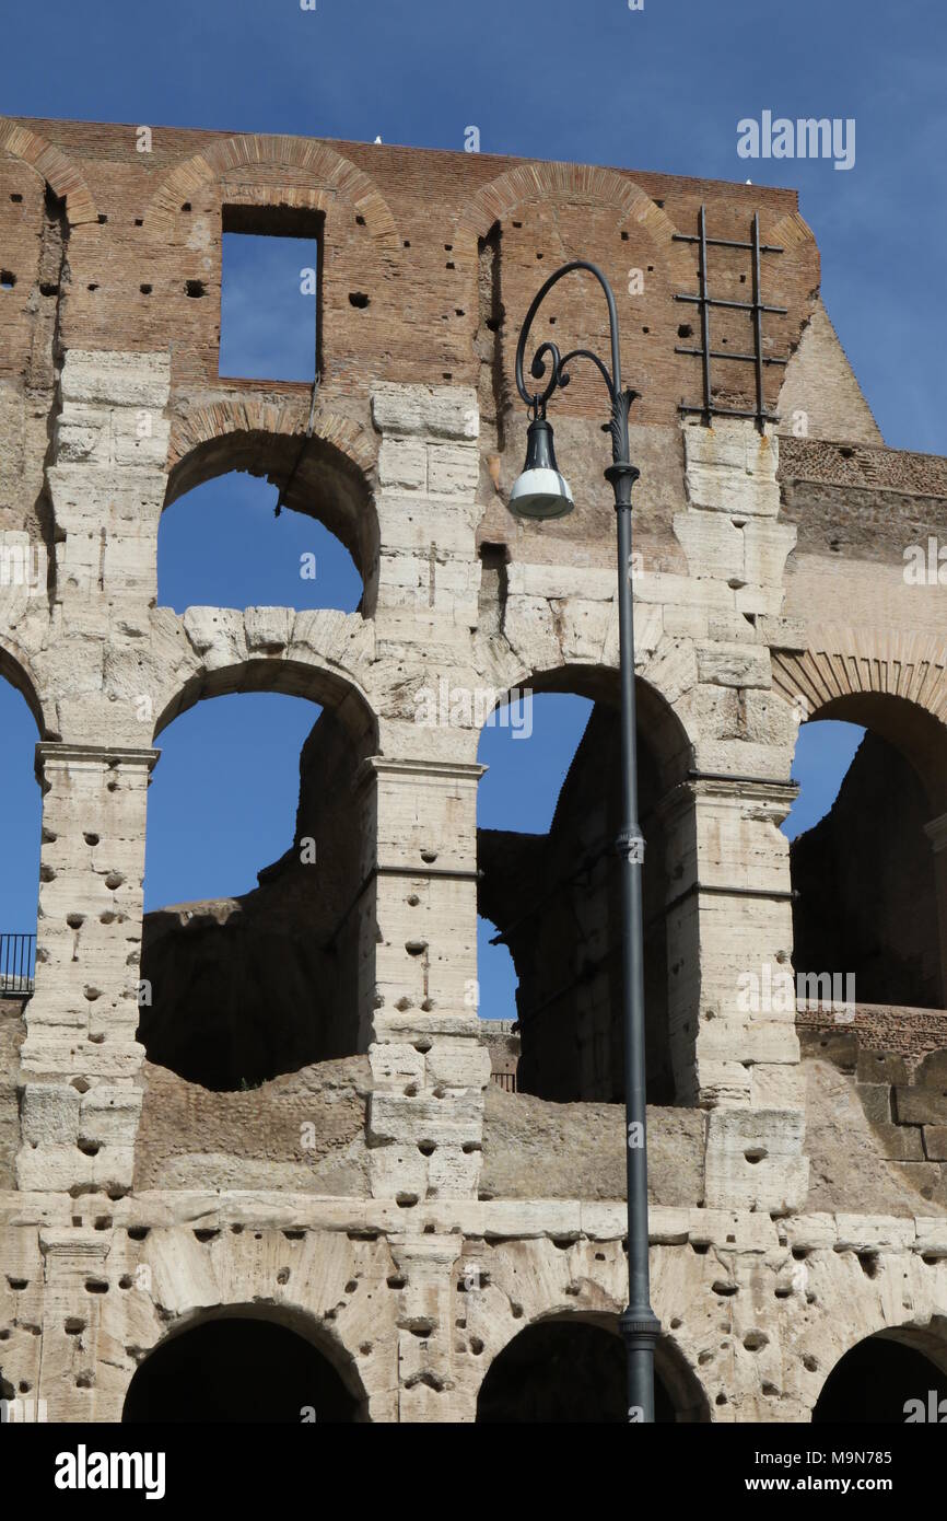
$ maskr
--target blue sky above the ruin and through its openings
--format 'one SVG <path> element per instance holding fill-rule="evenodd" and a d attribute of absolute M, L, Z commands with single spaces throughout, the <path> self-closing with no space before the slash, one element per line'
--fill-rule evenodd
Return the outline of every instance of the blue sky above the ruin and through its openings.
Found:
<path fill-rule="evenodd" d="M 944 449 L 942 324 L 930 300 L 947 243 L 942 3 L 797 0 L 763 9 L 759 0 L 645 0 L 632 12 L 626 0 L 316 0 L 315 11 L 298 0 L 46 0 L 8 8 L 3 44 L 0 100 L 12 116 L 368 141 L 380 134 L 448 149 L 461 149 L 476 125 L 485 152 L 795 186 L 819 242 L 825 303 L 886 441 Z M 854 167 L 740 160 L 737 122 L 765 110 L 854 117 Z M 284 315 L 252 330 L 234 281 L 240 257 L 248 251 L 230 266 L 228 327 L 254 359 L 225 353 L 222 371 L 254 362 L 266 373 L 269 333 L 275 373 L 289 379 L 290 365 L 310 362 L 315 338 L 309 318 L 296 319 L 298 284 L 292 303 L 287 289 Z M 298 281 L 298 251 L 287 246 L 283 278 Z M 274 505 L 275 488 L 233 476 L 176 503 L 161 528 L 160 599 L 179 608 L 353 608 L 357 576 L 340 546 L 309 519 L 274 520 Z M 299 576 L 307 552 L 319 566 L 315 581 Z M 493 770 L 482 823 L 547 827 L 582 709 L 544 712 L 535 744 L 486 735 L 482 759 Z M 150 792 L 149 907 L 245 891 L 283 852 L 310 719 L 304 703 L 260 695 L 201 704 L 164 732 Z M 803 730 L 793 830 L 830 805 L 857 741 L 827 730 Z M 35 738 L 26 706 L 0 681 L 0 931 L 32 928 L 35 914 Z M 202 789 L 214 750 L 228 759 L 231 785 Z M 280 785 L 261 788 L 261 773 Z M 505 998 L 508 978 L 485 964 L 483 1011 L 508 1013 Z"/>

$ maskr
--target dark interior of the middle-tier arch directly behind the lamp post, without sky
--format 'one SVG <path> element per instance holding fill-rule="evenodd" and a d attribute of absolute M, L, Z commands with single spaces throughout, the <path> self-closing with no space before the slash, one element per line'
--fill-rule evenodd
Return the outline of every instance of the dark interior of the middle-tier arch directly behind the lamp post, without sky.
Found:
<path fill-rule="evenodd" d="M 499 926 L 518 978 L 517 1089 L 559 1103 L 619 1103 L 623 1027 L 620 875 L 614 853 L 620 827 L 617 672 L 547 672 L 520 691 L 526 689 L 535 698 L 575 694 L 593 706 L 569 757 L 547 834 L 477 829 L 479 911 Z M 646 840 L 648 1095 L 651 1103 L 670 1104 L 686 1086 L 686 1062 L 672 1048 L 669 958 L 676 931 L 667 910 L 676 837 L 666 827 L 664 803 L 687 774 L 690 745 L 678 718 L 641 680 L 637 697 L 638 814 Z M 480 1013 L 497 1016 L 483 1004 Z"/>

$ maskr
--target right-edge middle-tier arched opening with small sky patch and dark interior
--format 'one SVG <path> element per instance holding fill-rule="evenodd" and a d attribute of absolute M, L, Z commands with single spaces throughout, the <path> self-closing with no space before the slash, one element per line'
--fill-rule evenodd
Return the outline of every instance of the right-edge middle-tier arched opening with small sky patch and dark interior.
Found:
<path fill-rule="evenodd" d="M 793 969 L 806 998 L 944 1007 L 947 881 L 938 881 L 944 858 L 927 827 L 944 806 L 921 760 L 935 756 L 927 742 L 915 745 L 907 706 L 842 701 L 800 732 L 801 791 L 783 827 Z"/>

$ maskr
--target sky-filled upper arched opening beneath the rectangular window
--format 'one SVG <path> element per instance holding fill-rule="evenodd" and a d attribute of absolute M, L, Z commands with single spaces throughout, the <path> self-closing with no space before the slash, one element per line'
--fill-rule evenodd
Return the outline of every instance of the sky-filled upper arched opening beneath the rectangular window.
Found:
<path fill-rule="evenodd" d="M 178 497 L 158 528 L 158 604 L 354 613 L 362 578 L 350 549 L 301 510 L 275 516 L 278 502 L 277 485 L 236 470 Z"/>

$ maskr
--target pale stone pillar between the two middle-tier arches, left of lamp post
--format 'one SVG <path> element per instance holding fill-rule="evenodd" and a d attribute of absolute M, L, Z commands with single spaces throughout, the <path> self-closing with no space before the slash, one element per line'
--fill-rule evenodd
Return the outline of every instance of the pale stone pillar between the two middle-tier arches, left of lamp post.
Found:
<path fill-rule="evenodd" d="M 371 1188 L 406 1208 L 476 1196 L 480 1174 L 489 1081 L 476 987 L 482 771 L 380 756 L 362 770 L 377 841 L 360 907 Z"/>

